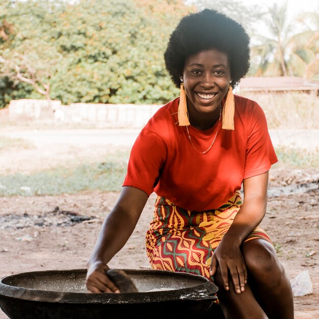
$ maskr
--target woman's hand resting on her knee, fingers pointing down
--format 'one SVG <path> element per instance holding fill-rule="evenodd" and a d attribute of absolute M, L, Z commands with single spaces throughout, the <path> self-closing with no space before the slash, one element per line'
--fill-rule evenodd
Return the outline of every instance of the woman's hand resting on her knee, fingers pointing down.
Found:
<path fill-rule="evenodd" d="M 219 264 L 225 290 L 229 290 L 229 274 L 237 294 L 245 291 L 247 268 L 239 246 L 220 242 L 210 262 L 210 275 L 213 276 Z"/>

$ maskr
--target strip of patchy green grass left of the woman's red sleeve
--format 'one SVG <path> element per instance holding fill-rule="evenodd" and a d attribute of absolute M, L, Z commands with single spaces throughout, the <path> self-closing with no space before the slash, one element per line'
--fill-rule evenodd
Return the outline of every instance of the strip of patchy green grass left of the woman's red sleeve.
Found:
<path fill-rule="evenodd" d="M 122 158 L 125 158 L 122 154 Z M 58 167 L 32 174 L 0 176 L 0 196 L 76 194 L 83 191 L 120 191 L 126 160 Z"/>

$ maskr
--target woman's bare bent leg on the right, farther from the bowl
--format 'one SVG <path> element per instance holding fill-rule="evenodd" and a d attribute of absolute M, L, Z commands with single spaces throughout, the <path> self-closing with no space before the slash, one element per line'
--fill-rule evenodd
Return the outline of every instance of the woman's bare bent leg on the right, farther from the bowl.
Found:
<path fill-rule="evenodd" d="M 293 291 L 274 247 L 254 239 L 244 243 L 242 251 L 249 271 L 248 283 L 264 312 L 270 319 L 293 319 Z"/>

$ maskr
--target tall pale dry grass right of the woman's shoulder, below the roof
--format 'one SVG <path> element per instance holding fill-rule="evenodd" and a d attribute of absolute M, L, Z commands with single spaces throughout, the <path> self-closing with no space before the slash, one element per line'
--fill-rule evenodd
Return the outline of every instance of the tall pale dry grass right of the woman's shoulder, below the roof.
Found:
<path fill-rule="evenodd" d="M 241 93 L 264 110 L 270 129 L 319 129 L 319 97 L 314 94 Z"/>

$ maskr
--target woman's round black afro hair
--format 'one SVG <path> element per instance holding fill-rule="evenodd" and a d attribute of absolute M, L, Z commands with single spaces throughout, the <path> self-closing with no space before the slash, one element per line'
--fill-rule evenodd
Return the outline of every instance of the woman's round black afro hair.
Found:
<path fill-rule="evenodd" d="M 249 69 L 249 36 L 243 26 L 210 9 L 181 18 L 171 33 L 164 61 L 173 83 L 180 85 L 185 60 L 202 50 L 217 49 L 228 56 L 234 88 Z"/>

